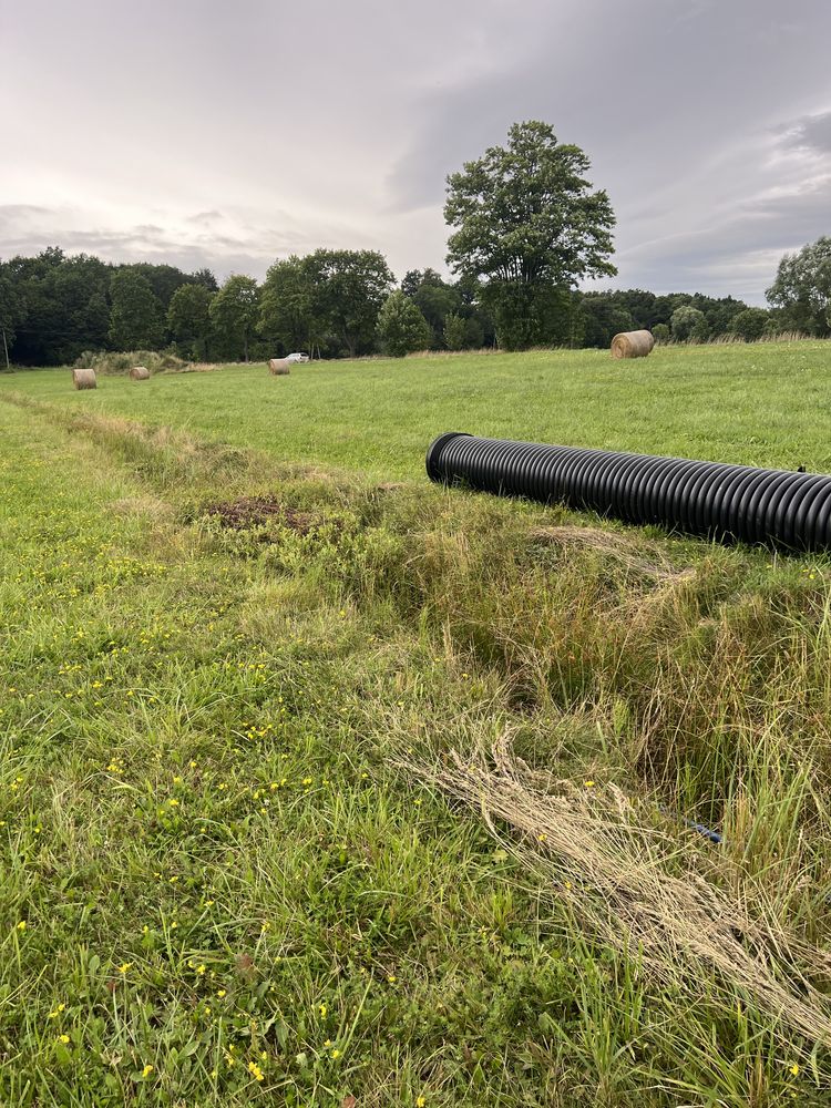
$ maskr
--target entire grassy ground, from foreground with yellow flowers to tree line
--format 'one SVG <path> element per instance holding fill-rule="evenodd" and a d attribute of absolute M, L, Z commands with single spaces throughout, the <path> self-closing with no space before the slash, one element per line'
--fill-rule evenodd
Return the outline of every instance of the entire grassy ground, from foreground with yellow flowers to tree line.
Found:
<path fill-rule="evenodd" d="M 830 399 L 820 342 L 0 378 L 0 1104 L 827 1105 L 831 562 L 422 466 L 831 471 Z"/>

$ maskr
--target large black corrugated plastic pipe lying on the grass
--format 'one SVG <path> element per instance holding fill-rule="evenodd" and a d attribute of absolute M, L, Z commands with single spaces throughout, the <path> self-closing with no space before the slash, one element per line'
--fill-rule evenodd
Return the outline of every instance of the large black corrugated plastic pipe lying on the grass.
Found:
<path fill-rule="evenodd" d="M 427 452 L 432 481 L 558 501 L 629 523 L 790 550 L 831 547 L 831 476 L 440 434 Z"/>

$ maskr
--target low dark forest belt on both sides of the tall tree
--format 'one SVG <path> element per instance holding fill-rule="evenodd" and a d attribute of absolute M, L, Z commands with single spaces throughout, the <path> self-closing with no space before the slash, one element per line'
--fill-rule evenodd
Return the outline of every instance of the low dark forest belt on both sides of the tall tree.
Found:
<path fill-rule="evenodd" d="M 749 307 L 733 297 L 643 289 L 545 294 L 545 341 L 607 347 L 617 331 L 656 338 L 752 340 L 798 329 L 827 335 L 823 314 Z M 198 361 L 257 360 L 294 350 L 341 358 L 408 350 L 507 346 L 489 309 L 486 285 L 410 270 L 397 285 L 371 250 L 316 250 L 276 261 L 261 284 L 209 269 L 113 265 L 59 247 L 0 261 L 0 365 L 69 365 L 85 351 L 172 350 Z"/>

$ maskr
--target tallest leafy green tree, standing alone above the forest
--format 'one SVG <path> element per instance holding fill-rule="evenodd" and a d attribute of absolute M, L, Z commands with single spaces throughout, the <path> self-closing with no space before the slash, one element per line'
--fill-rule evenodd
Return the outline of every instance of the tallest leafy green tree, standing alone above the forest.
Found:
<path fill-rule="evenodd" d="M 507 146 L 490 147 L 448 177 L 448 263 L 486 279 L 504 346 L 551 341 L 568 309 L 564 294 L 583 278 L 617 273 L 609 261 L 614 212 L 605 191 L 592 191 L 588 168 L 579 146 L 530 121 L 510 129 Z"/>

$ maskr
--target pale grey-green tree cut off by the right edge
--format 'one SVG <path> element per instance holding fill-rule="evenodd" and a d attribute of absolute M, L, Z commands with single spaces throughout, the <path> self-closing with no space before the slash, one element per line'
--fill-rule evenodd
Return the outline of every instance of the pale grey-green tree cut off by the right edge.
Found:
<path fill-rule="evenodd" d="M 797 254 L 786 254 L 768 301 L 781 308 L 782 329 L 825 336 L 831 332 L 831 237 L 824 235 Z"/>

